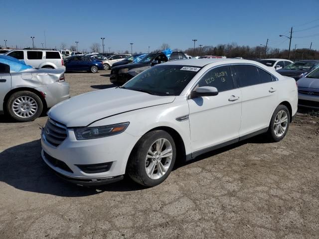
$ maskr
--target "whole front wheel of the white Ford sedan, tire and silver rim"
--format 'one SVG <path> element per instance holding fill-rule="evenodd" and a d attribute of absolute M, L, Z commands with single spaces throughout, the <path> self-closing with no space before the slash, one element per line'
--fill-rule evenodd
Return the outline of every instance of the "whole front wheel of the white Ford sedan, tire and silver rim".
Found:
<path fill-rule="evenodd" d="M 133 150 L 128 174 L 135 182 L 154 187 L 168 177 L 176 159 L 175 143 L 169 133 L 163 130 L 148 132 Z"/>

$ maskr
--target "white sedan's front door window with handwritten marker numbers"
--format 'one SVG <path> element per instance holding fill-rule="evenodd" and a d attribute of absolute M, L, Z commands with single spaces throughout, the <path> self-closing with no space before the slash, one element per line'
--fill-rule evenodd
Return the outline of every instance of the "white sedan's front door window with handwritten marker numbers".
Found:
<path fill-rule="evenodd" d="M 229 66 L 221 66 L 208 71 L 198 82 L 198 87 L 216 87 L 218 92 L 234 89 L 234 81 Z"/>

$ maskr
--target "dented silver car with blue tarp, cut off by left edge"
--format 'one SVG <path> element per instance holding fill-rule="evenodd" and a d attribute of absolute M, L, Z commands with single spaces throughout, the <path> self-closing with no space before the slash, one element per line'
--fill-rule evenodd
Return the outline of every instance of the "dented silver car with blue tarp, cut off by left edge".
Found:
<path fill-rule="evenodd" d="M 0 63 L 0 113 L 18 121 L 32 121 L 43 111 L 70 97 L 63 69 L 30 68 L 10 71 Z"/>

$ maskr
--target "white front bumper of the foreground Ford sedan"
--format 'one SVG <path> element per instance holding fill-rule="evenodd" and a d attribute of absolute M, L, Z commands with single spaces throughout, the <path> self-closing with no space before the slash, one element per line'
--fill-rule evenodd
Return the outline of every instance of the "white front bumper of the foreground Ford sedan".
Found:
<path fill-rule="evenodd" d="M 67 129 L 67 134 L 67 138 L 55 147 L 41 133 L 42 159 L 59 176 L 79 185 L 101 185 L 121 180 L 137 138 L 123 132 L 109 137 L 76 140 L 73 129 Z M 52 158 L 60 163 L 52 163 Z M 99 173 L 87 173 L 77 166 L 108 162 L 112 162 L 111 167 Z"/>

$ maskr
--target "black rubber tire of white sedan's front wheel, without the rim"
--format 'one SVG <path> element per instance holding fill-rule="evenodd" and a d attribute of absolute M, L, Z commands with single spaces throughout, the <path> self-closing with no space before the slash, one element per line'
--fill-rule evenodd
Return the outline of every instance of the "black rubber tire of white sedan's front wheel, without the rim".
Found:
<path fill-rule="evenodd" d="M 148 154 L 149 148 L 152 144 L 160 138 L 167 139 L 171 144 L 172 149 L 172 158 L 168 169 L 166 170 L 165 174 L 162 175 L 159 179 L 151 179 L 146 172 L 146 156 Z M 138 141 L 135 145 L 130 159 L 128 161 L 127 166 L 127 173 L 132 180 L 135 182 L 147 186 L 147 187 L 154 187 L 162 183 L 170 174 L 176 159 L 176 146 L 174 143 L 173 138 L 170 136 L 169 133 L 163 130 L 155 130 L 146 133 L 142 136 L 142 138 Z"/>

